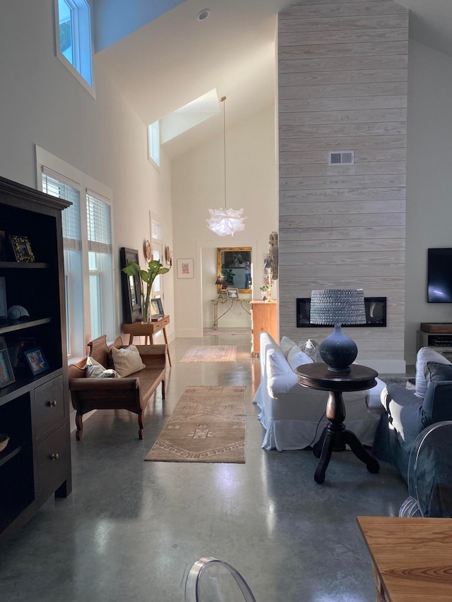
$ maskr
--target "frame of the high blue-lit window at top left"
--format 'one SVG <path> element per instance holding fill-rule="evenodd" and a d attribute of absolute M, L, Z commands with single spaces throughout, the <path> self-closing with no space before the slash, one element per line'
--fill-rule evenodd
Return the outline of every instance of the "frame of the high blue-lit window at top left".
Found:
<path fill-rule="evenodd" d="M 71 6 L 73 15 L 73 64 L 61 52 L 59 37 L 59 6 L 54 0 L 55 13 L 55 52 L 62 64 L 83 85 L 85 90 L 95 98 L 94 70 L 93 70 L 93 31 L 92 11 L 87 0 L 64 0 Z"/>

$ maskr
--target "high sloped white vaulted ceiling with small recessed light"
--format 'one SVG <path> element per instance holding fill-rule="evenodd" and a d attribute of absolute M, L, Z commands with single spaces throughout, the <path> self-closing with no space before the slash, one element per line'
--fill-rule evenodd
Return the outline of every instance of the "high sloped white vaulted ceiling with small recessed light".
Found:
<path fill-rule="evenodd" d="M 214 88 L 227 97 L 228 124 L 274 104 L 277 15 L 296 1 L 93 2 L 95 47 L 102 48 L 96 62 L 144 124 Z M 452 0 L 398 4 L 410 8 L 412 38 L 452 56 Z M 210 16 L 199 21 L 204 8 Z M 165 150 L 179 155 L 221 127 L 218 114 L 167 143 Z"/>

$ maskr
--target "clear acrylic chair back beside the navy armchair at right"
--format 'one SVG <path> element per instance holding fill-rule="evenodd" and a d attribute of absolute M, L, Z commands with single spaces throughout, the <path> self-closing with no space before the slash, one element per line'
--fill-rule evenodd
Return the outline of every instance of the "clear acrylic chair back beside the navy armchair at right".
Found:
<path fill-rule="evenodd" d="M 452 517 L 452 421 L 417 435 L 408 462 L 408 493 L 399 517 Z"/>

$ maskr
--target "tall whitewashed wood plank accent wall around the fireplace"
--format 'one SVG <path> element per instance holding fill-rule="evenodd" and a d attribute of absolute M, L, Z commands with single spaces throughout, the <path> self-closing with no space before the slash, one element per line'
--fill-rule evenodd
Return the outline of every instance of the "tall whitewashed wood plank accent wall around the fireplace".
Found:
<path fill-rule="evenodd" d="M 387 0 L 302 0 L 279 14 L 280 335 L 311 289 L 388 298 L 388 325 L 345 329 L 358 361 L 404 366 L 408 9 Z M 355 164 L 328 167 L 328 151 Z"/>

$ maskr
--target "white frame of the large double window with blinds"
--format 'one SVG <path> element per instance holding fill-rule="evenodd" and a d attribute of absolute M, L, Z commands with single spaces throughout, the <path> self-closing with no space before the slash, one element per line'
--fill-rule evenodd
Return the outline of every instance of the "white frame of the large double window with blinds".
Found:
<path fill-rule="evenodd" d="M 86 198 L 90 194 L 95 198 L 102 200 L 110 206 L 110 219 L 112 229 L 112 248 L 114 248 L 113 242 L 113 215 L 112 215 L 112 191 L 104 186 L 102 183 L 95 181 L 90 176 L 83 174 L 75 167 L 55 157 L 51 153 L 47 152 L 43 148 L 36 145 L 36 169 L 37 169 L 37 184 L 39 190 L 42 190 L 42 178 L 41 172 L 42 167 L 49 171 L 54 172 L 55 179 L 57 176 L 61 176 L 61 181 L 71 181 L 74 188 L 78 188 L 81 192 L 80 198 L 80 212 L 81 212 L 81 291 L 78 290 L 79 298 L 77 303 L 73 303 L 76 306 L 76 318 L 73 315 L 68 316 L 71 319 L 69 331 L 69 349 L 71 349 L 71 359 L 85 356 L 86 343 L 93 339 L 91 336 L 91 308 L 90 308 L 90 270 L 89 270 L 89 245 L 88 245 L 88 224 L 87 224 L 87 210 L 86 210 Z M 66 270 L 66 266 L 65 266 Z M 115 270 L 114 259 L 111 258 L 111 278 L 108 286 L 111 287 L 111 291 L 117 290 L 117 275 Z M 105 295 L 105 302 L 102 306 L 102 327 L 104 332 L 102 334 L 107 335 L 108 340 L 114 340 L 116 337 L 116 298 L 113 294 Z M 75 313 L 75 312 L 74 312 Z"/>

